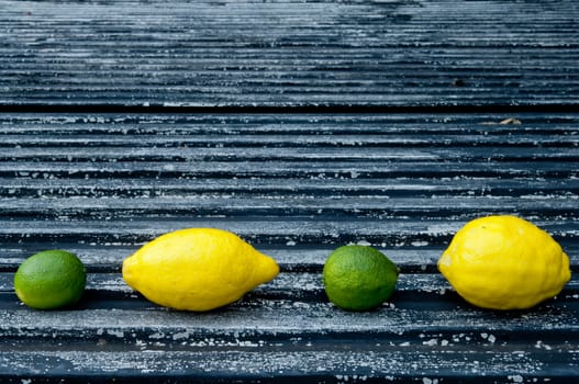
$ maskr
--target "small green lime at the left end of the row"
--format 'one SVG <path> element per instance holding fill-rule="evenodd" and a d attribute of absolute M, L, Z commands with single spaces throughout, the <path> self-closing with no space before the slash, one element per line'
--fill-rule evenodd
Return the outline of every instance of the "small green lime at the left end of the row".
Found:
<path fill-rule="evenodd" d="M 14 275 L 14 291 L 27 306 L 56 309 L 77 303 L 87 283 L 85 266 L 65 250 L 45 250 L 24 260 Z"/>

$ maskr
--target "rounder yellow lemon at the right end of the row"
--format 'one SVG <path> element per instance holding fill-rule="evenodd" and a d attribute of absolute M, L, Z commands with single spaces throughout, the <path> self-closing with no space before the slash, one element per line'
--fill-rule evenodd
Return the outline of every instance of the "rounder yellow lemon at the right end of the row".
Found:
<path fill-rule="evenodd" d="M 532 223 L 487 216 L 458 230 L 438 269 L 469 303 L 490 309 L 525 309 L 556 296 L 570 280 L 569 258 Z"/>

